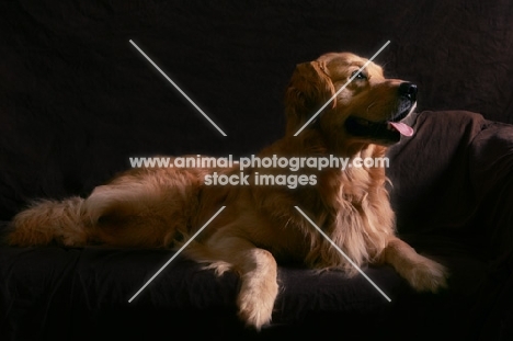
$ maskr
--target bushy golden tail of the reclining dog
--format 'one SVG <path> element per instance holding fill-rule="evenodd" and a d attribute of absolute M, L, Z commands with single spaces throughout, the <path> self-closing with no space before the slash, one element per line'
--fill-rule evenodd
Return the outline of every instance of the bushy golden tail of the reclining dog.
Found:
<path fill-rule="evenodd" d="M 34 202 L 11 221 L 8 243 L 12 246 L 45 246 L 53 242 L 81 247 L 88 241 L 82 217 L 84 200 L 78 196 L 64 201 Z"/>

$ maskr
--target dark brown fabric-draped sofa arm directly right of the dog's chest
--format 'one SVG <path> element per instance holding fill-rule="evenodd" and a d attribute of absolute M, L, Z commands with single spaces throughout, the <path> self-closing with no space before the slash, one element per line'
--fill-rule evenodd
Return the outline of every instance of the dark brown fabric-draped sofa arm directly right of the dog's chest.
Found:
<path fill-rule="evenodd" d="M 477 207 L 468 154 L 489 122 L 465 111 L 422 112 L 407 120 L 415 134 L 388 152 L 398 230 L 460 235 L 468 230 Z"/>

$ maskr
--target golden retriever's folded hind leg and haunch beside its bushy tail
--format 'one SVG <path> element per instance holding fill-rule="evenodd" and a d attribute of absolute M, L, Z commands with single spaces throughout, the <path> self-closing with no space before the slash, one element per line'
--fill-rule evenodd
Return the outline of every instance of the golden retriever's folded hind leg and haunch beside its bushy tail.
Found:
<path fill-rule="evenodd" d="M 162 248 L 186 235 L 193 195 L 150 181 L 98 186 L 84 201 L 82 214 L 96 242 Z"/>

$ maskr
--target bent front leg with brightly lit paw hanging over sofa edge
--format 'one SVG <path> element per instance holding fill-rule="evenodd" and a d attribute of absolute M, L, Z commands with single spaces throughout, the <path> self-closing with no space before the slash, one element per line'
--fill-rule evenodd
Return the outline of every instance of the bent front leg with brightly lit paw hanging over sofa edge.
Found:
<path fill-rule="evenodd" d="M 271 321 L 278 293 L 277 265 L 271 252 L 256 248 L 239 237 L 223 236 L 209 239 L 206 245 L 193 247 L 185 253 L 200 262 L 226 264 L 240 275 L 237 297 L 239 317 L 248 327 L 260 330 Z"/>

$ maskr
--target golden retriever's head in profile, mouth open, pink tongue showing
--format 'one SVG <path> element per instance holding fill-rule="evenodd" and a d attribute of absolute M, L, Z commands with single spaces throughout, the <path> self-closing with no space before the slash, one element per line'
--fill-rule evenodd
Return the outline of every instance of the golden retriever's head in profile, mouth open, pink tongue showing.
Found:
<path fill-rule="evenodd" d="M 332 98 L 307 129 L 320 129 L 334 144 L 388 146 L 413 129 L 400 123 L 413 109 L 417 86 L 386 79 L 383 69 L 350 53 L 330 53 L 299 64 L 287 89 L 287 135 L 296 134 Z M 353 78 L 352 81 L 351 78 Z"/>

